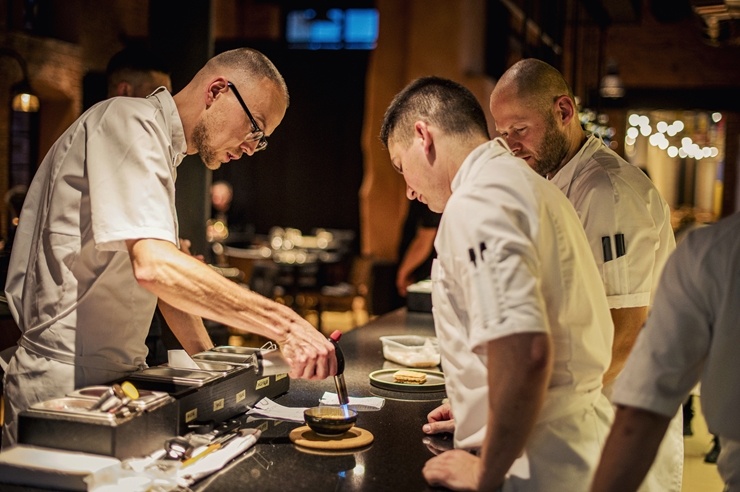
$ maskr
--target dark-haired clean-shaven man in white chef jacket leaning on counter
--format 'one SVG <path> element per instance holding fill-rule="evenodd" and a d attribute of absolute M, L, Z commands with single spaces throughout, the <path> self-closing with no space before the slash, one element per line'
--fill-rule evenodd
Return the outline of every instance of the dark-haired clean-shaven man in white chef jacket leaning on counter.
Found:
<path fill-rule="evenodd" d="M 424 431 L 454 431 L 457 449 L 432 458 L 425 478 L 587 490 L 612 418 L 601 385 L 613 325 L 573 207 L 489 141 L 480 105 L 452 81 L 406 87 L 381 140 L 409 199 L 443 212 L 432 280 L 450 403 Z"/>

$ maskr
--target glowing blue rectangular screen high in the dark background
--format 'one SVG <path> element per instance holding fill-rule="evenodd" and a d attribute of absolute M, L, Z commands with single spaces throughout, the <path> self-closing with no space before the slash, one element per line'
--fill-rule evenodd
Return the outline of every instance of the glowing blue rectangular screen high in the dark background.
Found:
<path fill-rule="evenodd" d="M 375 48 L 378 40 L 377 9 L 329 9 L 319 16 L 314 9 L 288 12 L 285 39 L 298 49 Z"/>

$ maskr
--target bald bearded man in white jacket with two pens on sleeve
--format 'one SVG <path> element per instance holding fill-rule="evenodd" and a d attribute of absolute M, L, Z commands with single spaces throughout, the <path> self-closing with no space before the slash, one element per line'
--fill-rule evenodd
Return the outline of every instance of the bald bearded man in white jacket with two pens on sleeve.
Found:
<path fill-rule="evenodd" d="M 491 93 L 496 130 L 515 155 L 568 197 L 586 231 L 612 320 L 611 388 L 632 350 L 675 249 L 670 209 L 650 179 L 581 127 L 562 74 L 528 58 L 515 63 Z M 680 492 L 683 425 L 677 414 L 642 492 Z"/>

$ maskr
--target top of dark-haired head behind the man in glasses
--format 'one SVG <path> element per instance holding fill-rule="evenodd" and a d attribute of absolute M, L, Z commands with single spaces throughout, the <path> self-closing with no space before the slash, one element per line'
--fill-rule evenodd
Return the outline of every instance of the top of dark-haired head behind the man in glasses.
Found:
<path fill-rule="evenodd" d="M 169 69 L 151 49 L 127 47 L 113 55 L 105 70 L 108 97 L 146 97 L 157 87 L 172 91 Z"/>

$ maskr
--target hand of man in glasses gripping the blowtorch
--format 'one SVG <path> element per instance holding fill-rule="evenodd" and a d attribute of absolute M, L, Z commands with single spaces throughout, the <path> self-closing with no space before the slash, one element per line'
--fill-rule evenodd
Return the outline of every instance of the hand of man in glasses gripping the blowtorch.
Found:
<path fill-rule="evenodd" d="M 337 373 L 334 345 L 303 318 L 291 320 L 287 338 L 278 341 L 291 378 L 325 379 Z"/>

